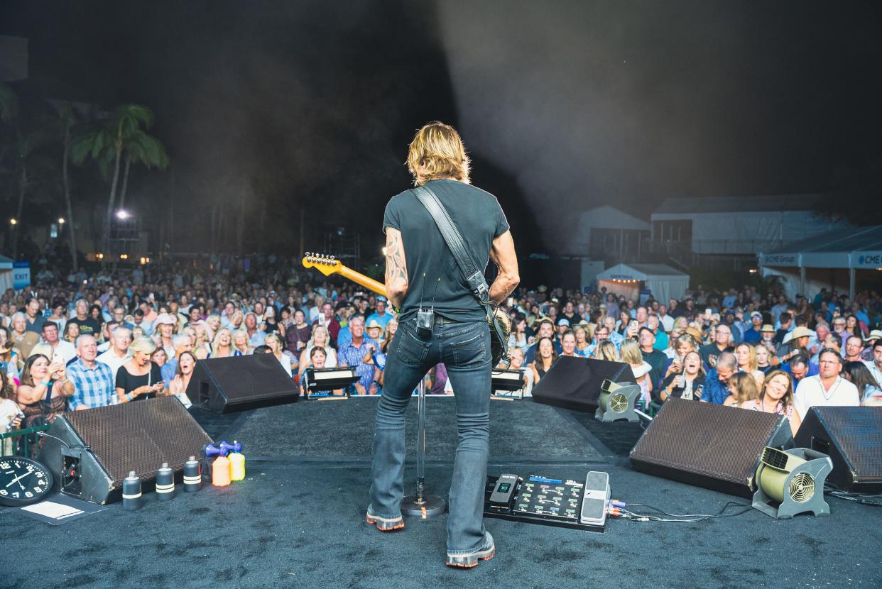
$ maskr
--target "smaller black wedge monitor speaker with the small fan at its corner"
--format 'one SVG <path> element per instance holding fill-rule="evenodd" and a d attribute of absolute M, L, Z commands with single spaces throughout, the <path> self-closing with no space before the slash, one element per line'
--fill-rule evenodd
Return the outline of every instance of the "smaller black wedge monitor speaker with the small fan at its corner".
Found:
<path fill-rule="evenodd" d="M 604 380 L 633 383 L 634 374 L 624 362 L 562 356 L 533 387 L 533 399 L 564 409 L 594 411 L 600 405 Z"/>

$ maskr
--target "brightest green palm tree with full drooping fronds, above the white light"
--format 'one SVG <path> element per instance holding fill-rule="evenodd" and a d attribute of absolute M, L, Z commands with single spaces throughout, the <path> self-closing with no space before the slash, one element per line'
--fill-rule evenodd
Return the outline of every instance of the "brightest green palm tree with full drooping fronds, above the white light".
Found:
<path fill-rule="evenodd" d="M 71 145 L 71 160 L 76 164 L 81 164 L 86 157 L 91 157 L 98 162 L 102 172 L 106 173 L 110 162 L 113 162 L 113 180 L 110 183 L 110 196 L 101 239 L 105 250 L 108 250 L 110 243 L 110 223 L 116 205 L 116 188 L 119 185 L 123 152 L 126 152 L 128 147 L 131 150 L 131 160 L 146 159 L 151 162 L 150 166 L 155 165 L 159 168 L 168 166 L 168 155 L 165 154 L 165 149 L 161 147 L 159 140 L 144 132 L 151 126 L 153 126 L 153 112 L 150 108 L 139 104 L 124 104 L 116 108 L 101 128 L 80 136 Z M 157 148 L 161 148 L 161 152 L 158 152 Z"/>

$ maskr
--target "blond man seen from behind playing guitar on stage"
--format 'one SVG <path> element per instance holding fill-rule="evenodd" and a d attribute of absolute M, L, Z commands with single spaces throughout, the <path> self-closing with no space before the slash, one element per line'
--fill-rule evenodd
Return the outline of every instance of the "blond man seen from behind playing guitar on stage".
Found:
<path fill-rule="evenodd" d="M 519 282 L 514 242 L 497 198 L 469 183 L 468 164 L 459 133 L 443 123 L 429 123 L 417 131 L 407 154 L 415 185 L 425 185 L 437 195 L 475 262 L 484 268 L 492 259 L 497 265 L 490 300 L 499 304 Z M 482 522 L 490 445 L 487 313 L 413 191 L 405 190 L 389 201 L 383 227 L 385 290 L 400 312 L 377 405 L 367 520 L 382 531 L 404 527 L 400 507 L 405 411 L 419 380 L 444 362 L 456 391 L 460 440 L 450 488 L 446 564 L 472 567 L 495 554 L 493 538 Z"/>

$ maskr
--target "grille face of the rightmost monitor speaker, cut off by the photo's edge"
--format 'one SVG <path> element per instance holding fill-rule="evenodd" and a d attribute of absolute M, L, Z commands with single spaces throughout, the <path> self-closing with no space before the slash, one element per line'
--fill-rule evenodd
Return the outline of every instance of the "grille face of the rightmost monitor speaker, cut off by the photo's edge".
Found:
<path fill-rule="evenodd" d="M 882 406 L 812 407 L 862 482 L 882 482 Z"/>

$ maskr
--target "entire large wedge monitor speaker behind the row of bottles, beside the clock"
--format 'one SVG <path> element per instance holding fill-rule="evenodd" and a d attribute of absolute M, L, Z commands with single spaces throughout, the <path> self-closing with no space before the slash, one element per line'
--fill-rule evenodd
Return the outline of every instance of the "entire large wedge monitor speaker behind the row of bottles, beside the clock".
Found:
<path fill-rule="evenodd" d="M 40 461 L 56 490 L 101 505 L 122 496 L 130 471 L 149 491 L 163 462 L 181 475 L 183 463 L 212 443 L 176 397 L 71 411 L 52 422 L 49 436 Z"/>

